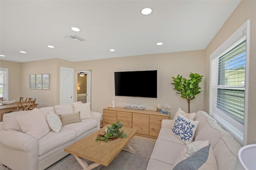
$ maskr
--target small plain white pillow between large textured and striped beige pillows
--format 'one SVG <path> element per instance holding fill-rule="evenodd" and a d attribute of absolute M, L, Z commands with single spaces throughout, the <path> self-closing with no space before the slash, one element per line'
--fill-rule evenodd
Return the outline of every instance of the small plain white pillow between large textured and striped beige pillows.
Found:
<path fill-rule="evenodd" d="M 62 127 L 62 123 L 60 121 L 60 118 L 53 112 L 50 112 L 49 115 L 46 117 L 47 123 L 49 127 L 52 129 L 52 131 L 58 133 L 60 132 L 60 129 Z"/>

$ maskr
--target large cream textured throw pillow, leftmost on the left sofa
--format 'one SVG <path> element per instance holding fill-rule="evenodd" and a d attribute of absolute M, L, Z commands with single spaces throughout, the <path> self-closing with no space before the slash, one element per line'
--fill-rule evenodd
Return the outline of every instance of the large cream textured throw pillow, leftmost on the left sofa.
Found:
<path fill-rule="evenodd" d="M 46 121 L 46 117 L 37 108 L 33 109 L 28 114 L 17 116 L 17 121 L 22 132 L 35 137 L 37 140 L 51 130 Z"/>

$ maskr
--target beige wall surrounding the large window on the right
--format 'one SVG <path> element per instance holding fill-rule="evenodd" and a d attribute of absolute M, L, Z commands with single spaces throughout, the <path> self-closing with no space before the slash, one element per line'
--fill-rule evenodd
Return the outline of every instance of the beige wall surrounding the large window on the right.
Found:
<path fill-rule="evenodd" d="M 250 20 L 250 64 L 249 64 L 249 96 L 248 96 L 248 134 L 247 143 L 256 143 L 256 1 L 242 0 L 236 10 L 228 18 L 218 34 L 209 43 L 205 49 L 205 81 L 204 81 L 204 110 L 209 111 L 209 72 L 210 55 L 225 40 L 227 40 L 242 24 Z"/>

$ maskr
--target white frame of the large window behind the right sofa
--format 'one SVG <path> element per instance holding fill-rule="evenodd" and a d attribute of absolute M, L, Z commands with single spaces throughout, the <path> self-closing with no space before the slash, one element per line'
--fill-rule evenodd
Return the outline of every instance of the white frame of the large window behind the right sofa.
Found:
<path fill-rule="evenodd" d="M 243 125 L 243 134 L 242 139 L 239 137 L 238 132 L 233 130 L 231 126 L 226 127 L 225 124 L 229 124 L 228 120 L 220 118 L 218 115 L 212 115 L 212 61 L 216 58 L 220 58 L 224 51 L 227 51 L 234 43 L 236 43 L 242 36 L 246 35 L 246 69 L 245 69 L 245 84 L 244 84 L 244 125 Z M 209 114 L 217 119 L 218 123 L 228 130 L 238 142 L 243 145 L 247 144 L 247 125 L 248 125 L 248 77 L 249 77 L 249 49 L 250 47 L 250 20 L 247 20 L 234 34 L 232 34 L 222 45 L 220 45 L 211 55 L 210 55 L 210 85 L 209 85 Z M 216 95 L 214 95 L 216 96 Z M 217 101 L 217 100 L 216 100 Z M 222 119 L 222 120 L 220 120 Z M 235 127 L 234 127 L 235 128 Z"/>

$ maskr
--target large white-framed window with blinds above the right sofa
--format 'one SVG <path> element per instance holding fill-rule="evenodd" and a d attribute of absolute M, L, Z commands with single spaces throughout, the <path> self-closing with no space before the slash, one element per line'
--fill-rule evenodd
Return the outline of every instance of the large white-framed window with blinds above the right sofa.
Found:
<path fill-rule="evenodd" d="M 247 23 L 211 55 L 210 115 L 244 143 L 246 72 L 248 65 Z M 246 125 L 247 127 L 247 125 Z"/>

